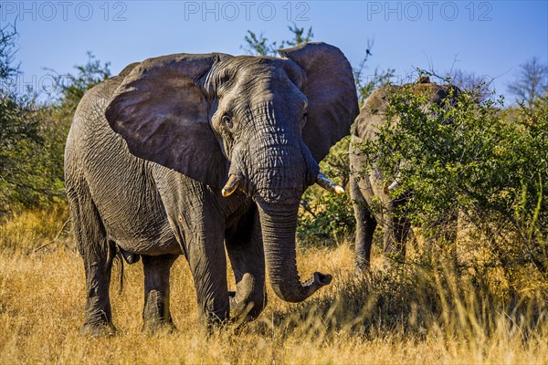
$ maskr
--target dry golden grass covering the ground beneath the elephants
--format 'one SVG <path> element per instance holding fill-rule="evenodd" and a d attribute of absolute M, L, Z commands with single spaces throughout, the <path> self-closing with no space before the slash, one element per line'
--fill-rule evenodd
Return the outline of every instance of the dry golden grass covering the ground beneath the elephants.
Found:
<path fill-rule="evenodd" d="M 113 280 L 108 339 L 79 336 L 84 277 L 71 239 L 50 242 L 62 210 L 23 214 L 0 226 L 0 364 L 11 363 L 548 363 L 545 297 L 531 292 L 515 310 L 491 303 L 477 284 L 447 270 L 353 275 L 349 245 L 300 252 L 300 272 L 332 273 L 333 283 L 291 305 L 269 291 L 269 306 L 238 333 L 206 337 L 181 258 L 172 270 L 172 314 L 179 331 L 142 333 L 142 266 Z M 34 225 L 33 225 L 34 224 Z M 27 229 L 28 226 L 33 227 Z M 374 252 L 378 256 L 378 253 Z M 115 266 L 114 277 L 120 267 Z"/>

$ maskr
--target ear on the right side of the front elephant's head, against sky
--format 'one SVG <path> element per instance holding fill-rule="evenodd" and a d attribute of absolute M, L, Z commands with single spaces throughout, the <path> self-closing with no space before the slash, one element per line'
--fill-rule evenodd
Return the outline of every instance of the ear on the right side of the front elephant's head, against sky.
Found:
<path fill-rule="evenodd" d="M 308 118 L 302 138 L 320 162 L 333 144 L 350 134 L 359 113 L 353 69 L 339 48 L 325 43 L 305 43 L 279 54 L 306 72 L 301 90 L 308 99 Z"/>

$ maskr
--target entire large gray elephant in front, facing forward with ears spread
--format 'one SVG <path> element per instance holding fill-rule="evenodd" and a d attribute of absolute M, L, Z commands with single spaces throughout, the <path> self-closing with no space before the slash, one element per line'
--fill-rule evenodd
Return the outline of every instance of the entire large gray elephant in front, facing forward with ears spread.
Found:
<path fill-rule="evenodd" d="M 208 324 L 257 318 L 274 292 L 300 302 L 300 196 L 358 114 L 350 64 L 323 43 L 277 57 L 178 54 L 147 59 L 81 100 L 65 156 L 70 214 L 86 271 L 83 333 L 114 330 L 117 247 L 142 257 L 144 328 L 172 324 L 170 266 L 185 255 Z M 227 197 L 221 188 L 238 180 Z M 228 189 L 230 190 L 230 189 Z M 225 248 L 237 281 L 227 290 Z"/>

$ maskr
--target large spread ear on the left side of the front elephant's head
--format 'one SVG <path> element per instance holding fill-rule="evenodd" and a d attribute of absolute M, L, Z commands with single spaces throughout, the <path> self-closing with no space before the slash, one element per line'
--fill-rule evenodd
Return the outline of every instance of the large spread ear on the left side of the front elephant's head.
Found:
<path fill-rule="evenodd" d="M 228 162 L 209 125 L 205 95 L 196 84 L 228 55 L 177 54 L 150 58 L 114 92 L 105 116 L 133 155 L 214 187 L 227 180 Z"/>

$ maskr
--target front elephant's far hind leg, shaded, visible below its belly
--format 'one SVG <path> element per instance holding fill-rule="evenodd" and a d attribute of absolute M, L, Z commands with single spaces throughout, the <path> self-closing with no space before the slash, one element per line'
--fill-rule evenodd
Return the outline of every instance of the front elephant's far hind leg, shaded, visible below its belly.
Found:
<path fill-rule="evenodd" d="M 144 270 L 143 329 L 154 332 L 167 325 L 174 328 L 169 311 L 169 273 L 176 255 L 142 255 Z"/>

